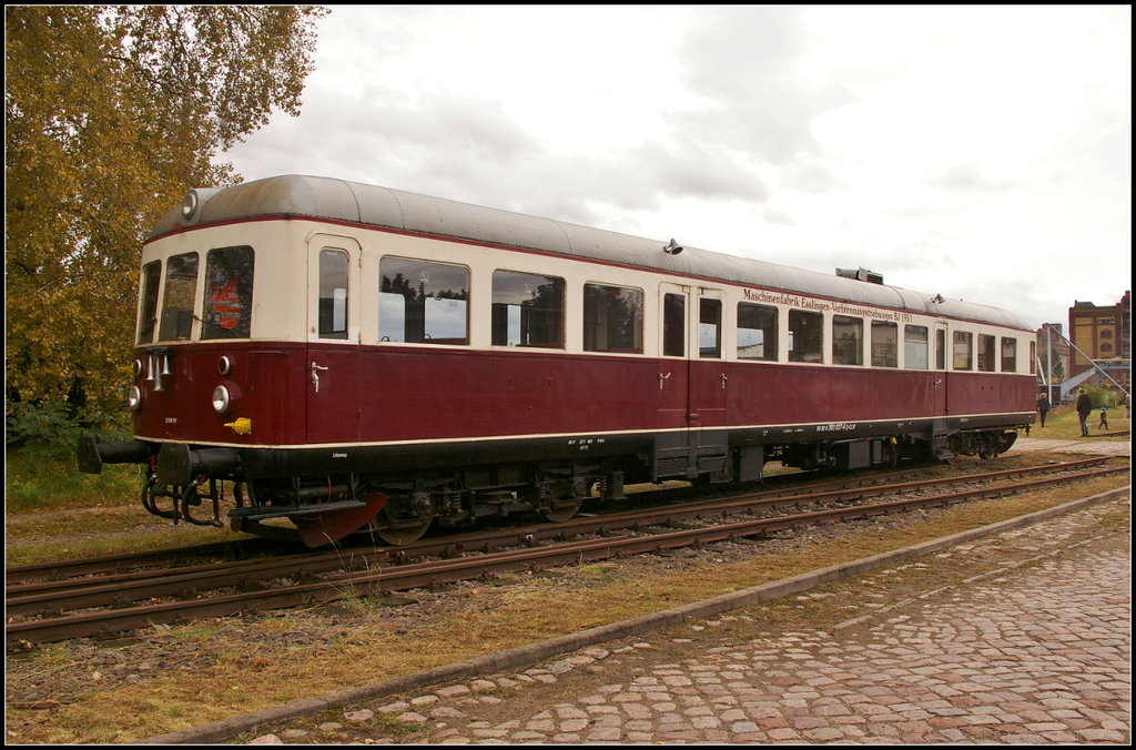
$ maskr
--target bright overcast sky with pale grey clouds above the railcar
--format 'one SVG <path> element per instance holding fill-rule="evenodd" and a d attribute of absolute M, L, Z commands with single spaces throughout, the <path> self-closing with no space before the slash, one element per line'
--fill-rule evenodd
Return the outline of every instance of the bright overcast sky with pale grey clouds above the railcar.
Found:
<path fill-rule="evenodd" d="M 1131 280 L 1131 8 L 370 6 L 224 159 L 1004 307 Z"/>

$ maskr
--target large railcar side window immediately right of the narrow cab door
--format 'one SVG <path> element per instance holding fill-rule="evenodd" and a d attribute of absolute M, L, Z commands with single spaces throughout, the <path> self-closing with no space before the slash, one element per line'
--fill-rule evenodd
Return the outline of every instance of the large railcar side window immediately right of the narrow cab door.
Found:
<path fill-rule="evenodd" d="M 469 343 L 468 268 L 387 257 L 378 269 L 378 332 L 383 341 Z"/>

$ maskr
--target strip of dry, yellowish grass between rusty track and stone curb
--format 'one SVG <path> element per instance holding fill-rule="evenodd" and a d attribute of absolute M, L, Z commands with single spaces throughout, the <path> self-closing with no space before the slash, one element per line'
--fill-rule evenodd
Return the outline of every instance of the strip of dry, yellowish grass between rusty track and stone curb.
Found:
<path fill-rule="evenodd" d="M 1076 494 L 1126 481 L 1097 480 Z M 359 594 L 318 608 L 156 627 L 114 649 L 90 641 L 45 647 L 8 663 L 7 740 L 136 741 L 876 555 L 1059 505 L 1069 494 L 1056 489 L 758 544 L 512 573 L 385 605 Z M 1110 523 L 1127 524 L 1126 514 L 1114 515 Z M 751 609 L 758 610 L 799 627 L 832 616 L 824 600 Z"/>

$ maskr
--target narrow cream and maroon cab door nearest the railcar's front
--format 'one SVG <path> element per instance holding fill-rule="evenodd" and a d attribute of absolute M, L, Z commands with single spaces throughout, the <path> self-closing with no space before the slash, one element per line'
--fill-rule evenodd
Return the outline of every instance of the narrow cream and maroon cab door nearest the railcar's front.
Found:
<path fill-rule="evenodd" d="M 309 443 L 358 440 L 359 257 L 352 238 L 316 234 L 308 241 Z"/>

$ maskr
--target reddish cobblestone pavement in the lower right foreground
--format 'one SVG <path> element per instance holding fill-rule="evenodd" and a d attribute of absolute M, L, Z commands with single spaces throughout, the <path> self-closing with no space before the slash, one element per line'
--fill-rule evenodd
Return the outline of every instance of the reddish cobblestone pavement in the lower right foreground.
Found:
<path fill-rule="evenodd" d="M 888 576 L 999 560 L 907 601 L 879 594 L 824 632 L 766 632 L 741 610 L 253 743 L 1129 744 L 1127 508 L 1103 502 L 866 574 L 851 593 L 797 597 L 857 597 L 862 614 Z M 1122 520 L 1101 524 L 1110 515 Z"/>

